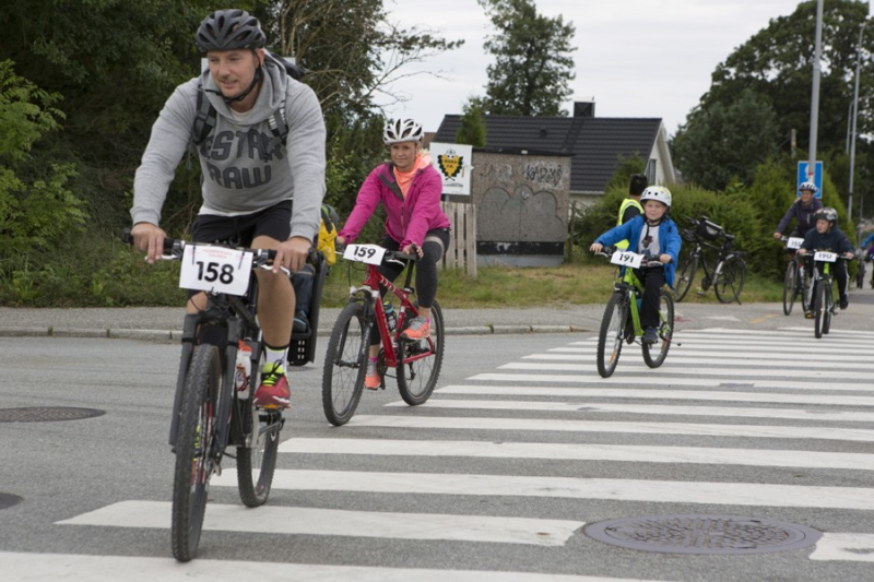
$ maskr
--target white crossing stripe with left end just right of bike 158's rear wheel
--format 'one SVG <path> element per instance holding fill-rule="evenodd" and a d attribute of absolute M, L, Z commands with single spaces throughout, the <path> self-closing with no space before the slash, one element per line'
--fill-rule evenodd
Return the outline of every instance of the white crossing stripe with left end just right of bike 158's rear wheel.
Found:
<path fill-rule="evenodd" d="M 288 439 L 280 444 L 280 452 L 378 456 L 470 456 L 483 459 L 692 463 L 874 471 L 874 455 L 872 454 L 704 447 L 308 438 Z"/>

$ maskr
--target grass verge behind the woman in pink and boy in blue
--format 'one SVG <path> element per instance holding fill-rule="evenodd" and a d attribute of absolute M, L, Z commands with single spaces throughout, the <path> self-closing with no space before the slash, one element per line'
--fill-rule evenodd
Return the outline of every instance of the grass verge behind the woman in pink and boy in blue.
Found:
<path fill-rule="evenodd" d="M 323 307 L 341 307 L 349 298 L 350 285 L 361 285 L 363 272 L 352 271 L 342 259 L 333 266 L 322 294 Z M 441 271 L 437 298 L 444 308 L 563 307 L 606 302 L 613 292 L 615 270 L 604 261 L 587 259 L 555 268 L 483 268 L 471 278 L 459 270 Z M 698 295 L 695 286 L 684 302 L 719 304 L 712 287 Z M 403 275 L 398 277 L 403 283 Z M 782 300 L 782 282 L 768 281 L 747 272 L 742 302 Z"/>

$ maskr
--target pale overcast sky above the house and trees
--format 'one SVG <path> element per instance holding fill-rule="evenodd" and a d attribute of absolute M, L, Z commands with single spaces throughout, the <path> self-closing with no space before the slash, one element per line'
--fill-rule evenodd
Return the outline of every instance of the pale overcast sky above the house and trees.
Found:
<path fill-rule="evenodd" d="M 710 74 L 772 17 L 789 15 L 798 0 L 536 0 L 538 11 L 564 15 L 576 27 L 574 100 L 595 100 L 598 117 L 659 117 L 670 134 L 710 86 Z M 440 71 L 394 85 L 410 99 L 388 109 L 436 131 L 444 115 L 461 114 L 471 95 L 484 95 L 493 59 L 483 40 L 493 33 L 476 0 L 386 0 L 389 20 L 418 25 L 460 49 L 406 69 Z"/>

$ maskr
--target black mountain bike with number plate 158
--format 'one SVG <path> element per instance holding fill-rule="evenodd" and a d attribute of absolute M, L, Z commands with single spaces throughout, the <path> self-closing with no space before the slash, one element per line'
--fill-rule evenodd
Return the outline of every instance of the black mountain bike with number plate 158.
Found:
<path fill-rule="evenodd" d="M 122 240 L 132 242 L 130 230 Z M 185 317 L 182 354 L 176 381 L 169 444 L 176 453 L 173 483 L 172 546 L 179 561 L 194 557 L 200 544 L 210 478 L 225 456 L 236 459 L 243 503 L 267 502 L 285 419 L 277 406 L 256 406 L 263 344 L 256 317 L 256 269 L 272 269 L 274 250 L 231 248 L 166 238 L 165 260 L 181 262 L 179 286 L 206 293 L 208 307 Z M 317 281 L 326 270 L 320 253 L 310 262 Z M 287 274 L 287 271 L 285 271 Z M 318 318 L 318 292 L 310 317 Z M 315 348 L 315 333 L 297 345 L 290 364 L 299 365 Z M 311 348 L 311 347 L 312 348 Z M 236 454 L 228 452 L 236 448 Z"/>

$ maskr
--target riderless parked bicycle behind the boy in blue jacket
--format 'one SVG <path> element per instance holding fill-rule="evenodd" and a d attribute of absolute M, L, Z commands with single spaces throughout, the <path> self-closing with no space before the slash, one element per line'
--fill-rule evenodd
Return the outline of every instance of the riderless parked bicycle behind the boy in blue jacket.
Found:
<path fill-rule="evenodd" d="M 746 264 L 743 260 L 744 252 L 732 250 L 735 237 L 725 233 L 718 224 L 711 223 L 707 216 L 701 216 L 697 221 L 686 218 L 686 222 L 694 228 L 681 230 L 680 236 L 683 237 L 683 240 L 695 244 L 695 248 L 686 257 L 683 268 L 677 268 L 677 302 L 682 301 L 688 293 L 695 275 L 698 273 L 698 264 L 700 264 L 704 269 L 704 278 L 698 295 L 704 295 L 712 284 L 717 299 L 723 304 L 737 301 L 740 305 L 741 290 L 744 288 L 744 277 L 746 276 Z M 720 238 L 723 240 L 721 245 L 711 242 Z M 713 249 L 718 253 L 717 266 L 713 271 L 710 271 L 707 263 L 705 248 Z"/>

